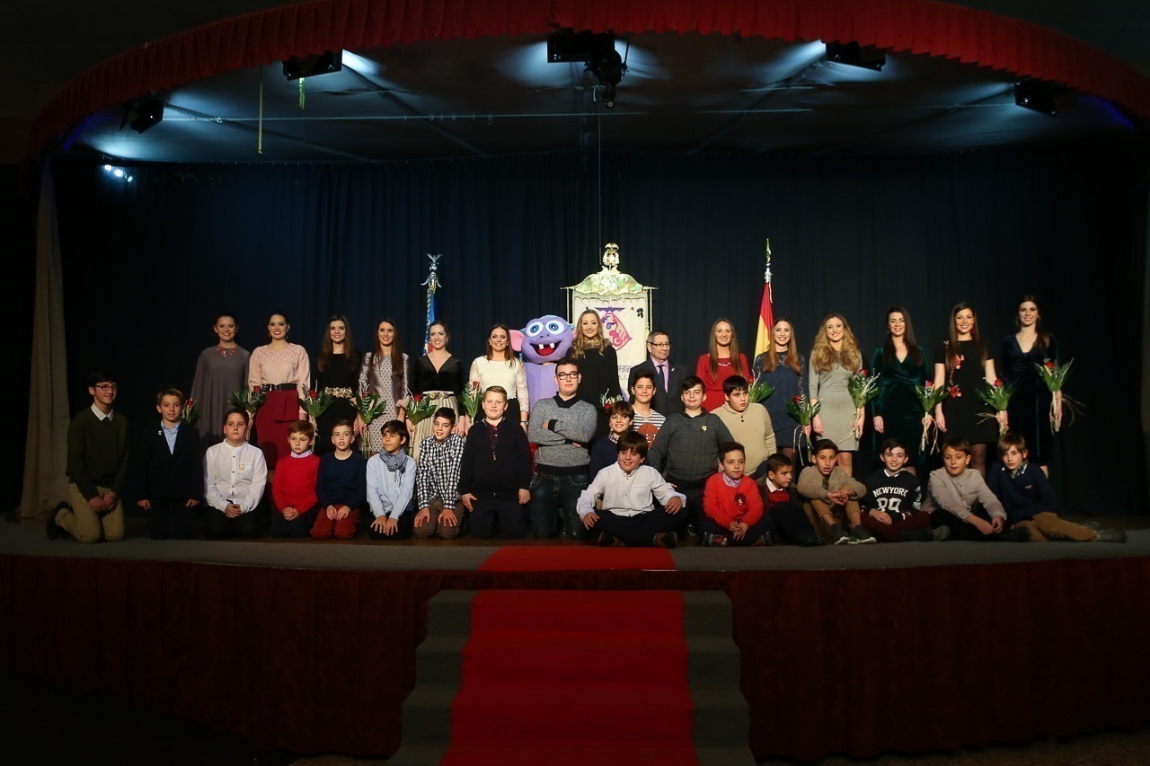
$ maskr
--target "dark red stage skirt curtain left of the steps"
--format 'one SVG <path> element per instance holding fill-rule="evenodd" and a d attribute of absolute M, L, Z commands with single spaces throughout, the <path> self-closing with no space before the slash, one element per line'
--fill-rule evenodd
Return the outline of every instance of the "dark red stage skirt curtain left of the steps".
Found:
<path fill-rule="evenodd" d="M 434 575 L 0 557 L 16 669 L 296 752 L 390 754 Z"/>

